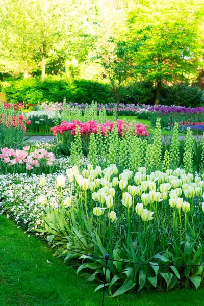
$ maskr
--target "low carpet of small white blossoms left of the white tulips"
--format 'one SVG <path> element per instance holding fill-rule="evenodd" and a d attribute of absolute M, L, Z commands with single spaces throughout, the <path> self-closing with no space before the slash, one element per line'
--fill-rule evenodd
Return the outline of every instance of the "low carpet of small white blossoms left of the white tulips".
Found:
<path fill-rule="evenodd" d="M 64 173 L 64 172 L 63 172 Z M 58 191 L 56 178 L 58 174 L 46 175 L 46 185 L 44 193 L 49 198 L 49 205 L 58 208 Z M 48 205 L 42 205 L 38 201 L 38 196 L 42 195 L 41 175 L 28 176 L 23 174 L 0 175 L 1 187 L 0 204 L 6 207 L 16 220 L 27 224 L 29 228 L 42 226 L 43 216 L 48 209 Z M 66 182 L 63 195 L 67 198 L 70 195 L 70 183 Z"/>

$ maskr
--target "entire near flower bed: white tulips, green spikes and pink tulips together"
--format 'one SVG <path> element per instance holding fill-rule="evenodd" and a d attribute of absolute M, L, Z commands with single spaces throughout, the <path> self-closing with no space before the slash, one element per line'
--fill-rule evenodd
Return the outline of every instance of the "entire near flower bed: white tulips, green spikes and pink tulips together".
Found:
<path fill-rule="evenodd" d="M 160 118 L 153 139 L 141 137 L 139 128 L 121 120 L 63 122 L 53 132 L 59 146 L 73 137 L 71 156 L 56 158 L 54 173 L 47 175 L 37 169 L 44 161 L 46 171 L 53 152 L 39 144 L 4 148 L 0 163 L 10 168 L 0 175 L 1 204 L 56 243 L 55 254 L 65 262 L 77 259 L 77 273 L 85 272 L 89 281 L 104 278 L 108 253 L 105 287 L 112 296 L 129 290 L 198 288 L 204 278 L 204 145 L 196 146 L 189 128 L 180 143 L 177 123 L 171 142 L 163 144 Z"/>

